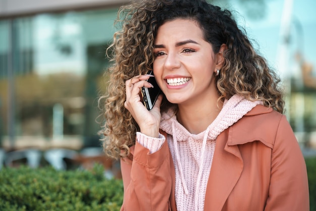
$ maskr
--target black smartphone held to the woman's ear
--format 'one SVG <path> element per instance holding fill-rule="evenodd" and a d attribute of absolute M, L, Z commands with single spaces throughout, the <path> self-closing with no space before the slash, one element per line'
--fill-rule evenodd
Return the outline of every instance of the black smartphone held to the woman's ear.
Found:
<path fill-rule="evenodd" d="M 147 74 L 153 75 L 152 71 L 149 71 Z M 156 80 L 154 77 L 149 77 L 147 79 L 149 83 L 152 84 L 153 88 L 147 88 L 147 87 L 142 87 L 141 88 L 141 95 L 143 96 L 143 102 L 148 111 L 150 111 L 154 105 L 154 103 L 157 100 L 157 97 L 161 93 L 161 89 L 159 88 Z"/>

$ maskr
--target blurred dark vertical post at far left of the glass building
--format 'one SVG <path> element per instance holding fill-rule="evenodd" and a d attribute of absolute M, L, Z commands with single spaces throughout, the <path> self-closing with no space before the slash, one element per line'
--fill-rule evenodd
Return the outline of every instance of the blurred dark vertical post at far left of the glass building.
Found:
<path fill-rule="evenodd" d="M 14 40 L 15 29 L 13 19 L 9 20 L 9 49 L 8 49 L 8 135 L 10 148 L 14 148 L 15 142 L 15 82 L 14 82 Z"/>

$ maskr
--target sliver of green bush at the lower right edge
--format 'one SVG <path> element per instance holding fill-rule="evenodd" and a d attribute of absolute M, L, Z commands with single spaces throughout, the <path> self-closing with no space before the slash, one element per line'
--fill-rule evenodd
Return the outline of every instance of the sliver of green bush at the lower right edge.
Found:
<path fill-rule="evenodd" d="M 316 157 L 305 159 L 309 187 L 310 211 L 316 211 Z"/>

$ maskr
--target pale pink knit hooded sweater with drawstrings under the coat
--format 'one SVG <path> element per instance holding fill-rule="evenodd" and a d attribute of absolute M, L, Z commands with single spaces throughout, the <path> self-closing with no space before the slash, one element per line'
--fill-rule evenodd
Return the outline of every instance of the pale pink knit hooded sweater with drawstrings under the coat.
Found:
<path fill-rule="evenodd" d="M 199 134 L 191 134 L 172 111 L 162 114 L 160 128 L 168 133 L 167 142 L 175 164 L 177 210 L 203 210 L 207 180 L 212 166 L 217 136 L 261 101 L 238 95 L 225 100 L 217 118 Z M 137 141 L 151 153 L 160 149 L 165 137 L 151 138 L 137 133 Z"/>

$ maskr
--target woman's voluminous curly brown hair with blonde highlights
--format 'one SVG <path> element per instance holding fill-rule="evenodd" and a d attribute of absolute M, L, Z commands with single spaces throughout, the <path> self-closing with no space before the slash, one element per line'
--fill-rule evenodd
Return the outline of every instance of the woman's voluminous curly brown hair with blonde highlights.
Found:
<path fill-rule="evenodd" d="M 137 0 L 122 6 L 118 12 L 113 43 L 107 50 L 112 65 L 104 100 L 102 126 L 104 151 L 113 158 L 129 155 L 135 144 L 137 123 L 124 107 L 125 81 L 152 69 L 153 42 L 157 29 L 166 21 L 189 19 L 198 23 L 204 39 L 215 53 L 222 44 L 224 65 L 216 79 L 219 100 L 234 94 L 249 100 L 262 100 L 268 107 L 283 113 L 284 100 L 279 88 L 280 78 L 257 54 L 244 30 L 240 29 L 228 10 L 208 4 L 205 0 Z M 174 106 L 166 97 L 161 112 Z"/>

